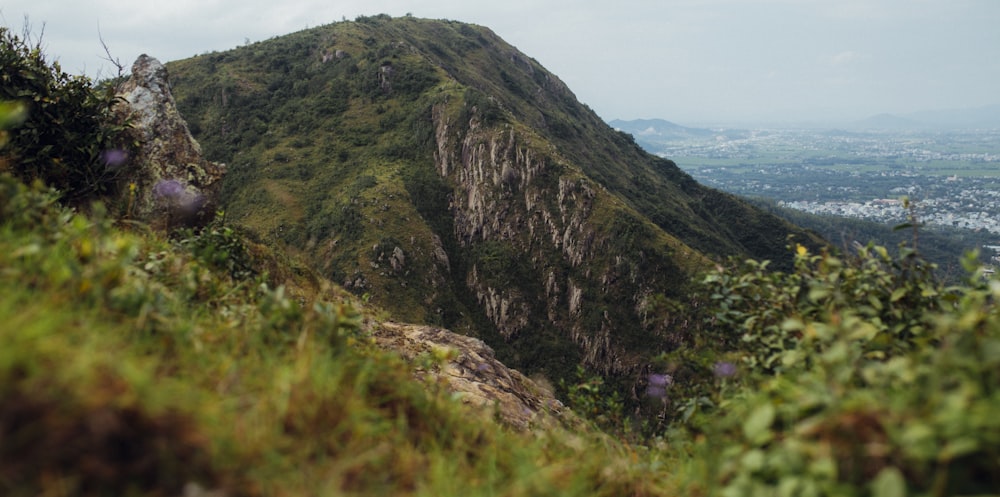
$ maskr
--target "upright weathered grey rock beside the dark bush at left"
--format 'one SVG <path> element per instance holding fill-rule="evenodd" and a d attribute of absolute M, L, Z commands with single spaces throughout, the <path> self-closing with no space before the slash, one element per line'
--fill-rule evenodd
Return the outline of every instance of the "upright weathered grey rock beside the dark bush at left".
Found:
<path fill-rule="evenodd" d="M 205 160 L 170 93 L 167 69 L 140 55 L 119 90 L 141 146 L 130 180 L 129 216 L 157 228 L 197 225 L 214 214 L 225 165 Z"/>

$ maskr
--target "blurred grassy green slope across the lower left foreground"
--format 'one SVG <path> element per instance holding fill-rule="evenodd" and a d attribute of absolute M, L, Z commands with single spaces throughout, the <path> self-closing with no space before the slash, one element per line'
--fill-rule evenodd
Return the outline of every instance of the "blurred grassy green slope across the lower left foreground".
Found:
<path fill-rule="evenodd" d="M 3 495 L 673 488 L 663 455 L 596 431 L 515 432 L 418 383 L 342 294 L 233 279 L 187 245 L 0 185 Z"/>

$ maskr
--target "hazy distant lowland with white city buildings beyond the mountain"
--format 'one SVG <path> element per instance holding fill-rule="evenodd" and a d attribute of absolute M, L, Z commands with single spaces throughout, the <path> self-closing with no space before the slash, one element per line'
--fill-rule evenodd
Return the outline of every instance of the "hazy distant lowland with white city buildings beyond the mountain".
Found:
<path fill-rule="evenodd" d="M 1000 128 L 701 129 L 614 121 L 698 181 L 814 214 L 986 230 L 1000 243 Z"/>

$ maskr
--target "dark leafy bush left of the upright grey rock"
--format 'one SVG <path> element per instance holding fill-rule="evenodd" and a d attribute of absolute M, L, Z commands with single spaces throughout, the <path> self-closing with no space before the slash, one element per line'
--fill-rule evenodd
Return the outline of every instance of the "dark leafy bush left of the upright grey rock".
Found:
<path fill-rule="evenodd" d="M 45 60 L 40 42 L 32 46 L 0 27 L 0 102 L 18 109 L 16 121 L 0 123 L 9 128 L 0 139 L 4 169 L 44 181 L 70 203 L 120 188 L 137 143 L 115 116 L 112 86 L 98 90 L 87 77 L 64 73 Z"/>

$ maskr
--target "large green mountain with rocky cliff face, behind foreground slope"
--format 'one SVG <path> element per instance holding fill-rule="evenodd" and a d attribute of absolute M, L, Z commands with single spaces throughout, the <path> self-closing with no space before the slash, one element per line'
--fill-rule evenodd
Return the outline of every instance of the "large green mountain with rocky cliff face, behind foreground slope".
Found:
<path fill-rule="evenodd" d="M 485 27 L 363 17 L 167 68 L 227 164 L 228 222 L 553 379 L 682 346 L 713 261 L 822 243 L 644 152 Z"/>

